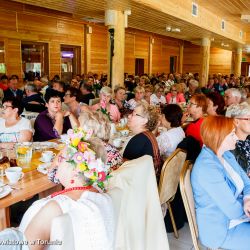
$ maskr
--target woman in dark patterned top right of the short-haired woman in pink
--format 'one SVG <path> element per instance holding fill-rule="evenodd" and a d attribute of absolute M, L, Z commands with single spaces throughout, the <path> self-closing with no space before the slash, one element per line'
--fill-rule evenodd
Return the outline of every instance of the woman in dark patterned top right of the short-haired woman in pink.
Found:
<path fill-rule="evenodd" d="M 121 86 L 117 86 L 114 89 L 114 99 L 111 100 L 112 104 L 115 104 L 117 108 L 119 109 L 119 112 L 121 113 L 121 116 L 124 116 L 128 112 L 130 112 L 130 105 L 126 101 L 126 89 Z"/>

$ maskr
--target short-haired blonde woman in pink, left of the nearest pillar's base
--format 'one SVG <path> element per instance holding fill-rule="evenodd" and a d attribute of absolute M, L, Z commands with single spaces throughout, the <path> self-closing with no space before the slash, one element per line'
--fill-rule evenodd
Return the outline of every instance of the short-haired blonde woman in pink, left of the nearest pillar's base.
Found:
<path fill-rule="evenodd" d="M 116 105 L 109 103 L 112 96 L 112 89 L 110 87 L 102 87 L 100 90 L 100 102 L 91 107 L 92 111 L 100 110 L 109 116 L 113 122 L 119 122 L 121 114 Z"/>

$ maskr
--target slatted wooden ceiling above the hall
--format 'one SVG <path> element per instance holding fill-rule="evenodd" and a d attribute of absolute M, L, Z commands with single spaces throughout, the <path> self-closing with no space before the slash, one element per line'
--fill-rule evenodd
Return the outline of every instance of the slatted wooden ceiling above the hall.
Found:
<path fill-rule="evenodd" d="M 211 32 L 198 25 L 166 14 L 160 10 L 144 4 L 140 0 L 15 0 L 16 2 L 35 5 L 57 11 L 70 13 L 73 17 L 88 22 L 104 22 L 105 9 L 126 10 L 130 9 L 132 14 L 128 18 L 128 25 L 131 28 L 140 29 L 152 33 L 171 36 L 178 39 L 198 43 L 201 38 L 209 37 L 214 39 L 211 46 L 221 47 L 221 43 L 229 44 L 224 49 L 235 49 L 244 44 L 224 37 L 221 34 Z M 151 0 L 156 2 L 158 0 Z M 164 0 L 159 0 L 163 2 Z M 158 2 L 159 2 L 158 1 Z M 176 0 L 177 1 L 177 0 Z M 179 1 L 180 2 L 180 1 Z M 241 14 L 250 14 L 250 0 L 194 0 L 200 6 L 204 6 L 212 13 L 223 17 L 225 21 L 242 27 L 250 32 L 250 24 L 245 24 L 240 20 Z M 166 26 L 178 27 L 180 33 L 166 31 Z M 250 41 L 249 41 L 250 42 Z M 247 44 L 245 47 L 248 46 Z M 250 43 L 249 43 L 250 47 Z"/>

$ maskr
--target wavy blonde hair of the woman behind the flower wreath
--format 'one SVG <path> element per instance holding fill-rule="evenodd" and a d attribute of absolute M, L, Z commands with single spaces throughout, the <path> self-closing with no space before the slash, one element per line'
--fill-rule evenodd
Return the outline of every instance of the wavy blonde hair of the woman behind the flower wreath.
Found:
<path fill-rule="evenodd" d="M 102 112 L 85 111 L 79 116 L 80 127 L 86 131 L 92 130 L 93 136 L 108 141 L 110 138 L 111 125 L 108 117 Z"/>

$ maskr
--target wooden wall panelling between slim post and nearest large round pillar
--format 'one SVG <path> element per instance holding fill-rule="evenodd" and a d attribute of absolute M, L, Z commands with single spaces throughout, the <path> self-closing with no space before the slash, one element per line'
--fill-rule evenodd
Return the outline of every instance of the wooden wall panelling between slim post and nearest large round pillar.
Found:
<path fill-rule="evenodd" d="M 105 26 L 92 26 L 91 71 L 108 73 L 108 30 Z"/>

